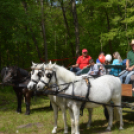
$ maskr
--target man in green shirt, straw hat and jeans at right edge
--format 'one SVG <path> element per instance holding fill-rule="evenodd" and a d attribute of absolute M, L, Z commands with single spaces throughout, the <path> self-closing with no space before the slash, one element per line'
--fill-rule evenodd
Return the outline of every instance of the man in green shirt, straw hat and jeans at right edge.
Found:
<path fill-rule="evenodd" d="M 130 46 L 132 48 L 131 51 L 127 54 L 126 61 L 126 71 L 120 76 L 120 80 L 123 83 L 123 78 L 125 79 L 125 84 L 129 84 L 131 80 L 131 75 L 134 74 L 134 39 L 131 41 Z"/>

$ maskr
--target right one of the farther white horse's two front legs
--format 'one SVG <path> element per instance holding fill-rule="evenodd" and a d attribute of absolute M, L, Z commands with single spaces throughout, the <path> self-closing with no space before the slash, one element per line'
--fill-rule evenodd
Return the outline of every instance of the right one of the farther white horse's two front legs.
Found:
<path fill-rule="evenodd" d="M 63 121 L 64 121 L 64 134 L 68 133 L 68 125 L 67 125 L 67 118 L 66 118 L 66 109 L 65 107 L 60 107 L 62 110 L 62 116 L 63 116 Z"/>

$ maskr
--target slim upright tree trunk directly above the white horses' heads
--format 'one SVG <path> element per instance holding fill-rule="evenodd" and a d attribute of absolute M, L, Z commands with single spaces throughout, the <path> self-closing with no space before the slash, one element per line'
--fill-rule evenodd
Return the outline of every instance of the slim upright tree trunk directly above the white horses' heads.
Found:
<path fill-rule="evenodd" d="M 43 34 L 43 40 L 44 40 L 45 62 L 48 62 L 47 41 L 46 41 L 46 32 L 45 32 L 45 23 L 44 23 L 44 3 L 43 3 L 43 0 L 40 0 L 40 4 L 41 4 L 41 13 L 42 13 L 41 27 L 42 27 L 42 34 Z"/>

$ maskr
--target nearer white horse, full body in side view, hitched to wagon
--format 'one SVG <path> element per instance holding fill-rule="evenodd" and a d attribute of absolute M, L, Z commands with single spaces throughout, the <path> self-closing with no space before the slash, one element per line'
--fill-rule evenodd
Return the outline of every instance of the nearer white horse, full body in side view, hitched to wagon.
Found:
<path fill-rule="evenodd" d="M 83 80 L 81 76 L 75 76 L 72 72 L 66 70 L 64 67 L 55 64 L 48 64 L 46 66 L 44 76 L 41 78 L 41 81 L 39 81 L 37 84 L 37 90 L 43 89 L 45 83 L 48 83 L 50 85 L 57 83 L 59 89 L 61 90 L 61 84 L 71 82 L 68 89 L 64 91 L 66 94 L 72 95 L 72 92 L 74 92 L 74 95 L 77 96 L 87 95 L 87 83 L 85 82 L 85 80 Z M 115 105 L 121 106 L 121 82 L 119 78 L 110 75 L 105 75 L 91 81 L 90 84 L 90 93 L 88 95 L 89 100 L 105 104 L 109 104 L 111 101 L 113 101 Z M 66 106 L 72 111 L 72 133 L 80 134 L 79 115 L 82 102 L 77 102 L 71 99 L 65 99 L 64 101 L 66 101 Z M 100 105 L 88 102 L 86 103 L 85 108 L 95 108 L 98 106 Z M 120 117 L 119 129 L 123 129 L 122 108 L 115 108 L 117 110 L 115 114 L 118 114 Z M 107 106 L 107 109 L 109 113 L 109 122 L 107 130 L 111 130 L 113 122 L 113 108 Z"/>

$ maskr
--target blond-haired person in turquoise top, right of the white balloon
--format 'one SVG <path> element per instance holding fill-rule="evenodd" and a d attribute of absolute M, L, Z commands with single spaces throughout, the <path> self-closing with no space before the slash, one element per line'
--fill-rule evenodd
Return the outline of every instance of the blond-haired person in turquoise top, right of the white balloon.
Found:
<path fill-rule="evenodd" d="M 114 57 L 114 60 L 113 60 L 112 65 L 122 65 L 122 59 L 121 59 L 119 52 L 114 52 L 113 57 Z M 114 76 L 118 76 L 120 72 L 121 72 L 121 69 L 111 68 L 110 74 Z"/>

